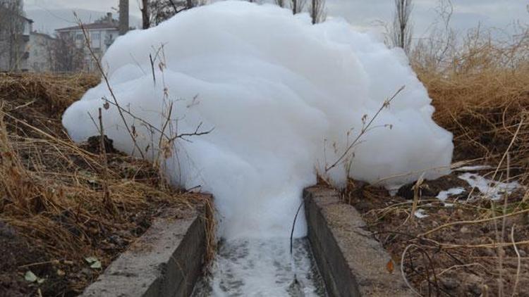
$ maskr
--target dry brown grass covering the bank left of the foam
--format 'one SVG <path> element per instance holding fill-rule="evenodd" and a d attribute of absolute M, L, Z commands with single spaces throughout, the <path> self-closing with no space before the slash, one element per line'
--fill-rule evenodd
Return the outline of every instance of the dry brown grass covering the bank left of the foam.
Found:
<path fill-rule="evenodd" d="M 193 208 L 202 199 L 169 187 L 146 161 L 115 151 L 103 156 L 99 138 L 73 144 L 61 114 L 97 83 L 85 75 L 0 77 L 0 222 L 42 252 L 42 264 L 20 263 L 30 266 L 18 272 L 31 267 L 48 278 L 44 295 L 79 292 L 99 273 L 86 271 L 85 257 L 107 265 L 164 208 Z"/>

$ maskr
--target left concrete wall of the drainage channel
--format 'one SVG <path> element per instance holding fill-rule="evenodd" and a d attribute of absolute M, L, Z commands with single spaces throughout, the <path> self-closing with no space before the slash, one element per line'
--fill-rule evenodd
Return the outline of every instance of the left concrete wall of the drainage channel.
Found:
<path fill-rule="evenodd" d="M 203 206 L 167 211 L 81 296 L 190 296 L 206 252 L 206 221 Z"/>

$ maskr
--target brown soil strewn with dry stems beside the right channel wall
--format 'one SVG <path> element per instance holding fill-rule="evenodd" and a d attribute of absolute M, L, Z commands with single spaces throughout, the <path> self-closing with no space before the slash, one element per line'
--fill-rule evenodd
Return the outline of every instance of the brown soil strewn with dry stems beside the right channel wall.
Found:
<path fill-rule="evenodd" d="M 454 172 L 423 184 L 418 202 L 418 208 L 425 210 L 428 215 L 423 218 L 411 216 L 411 187 L 403 187 L 397 196 L 391 196 L 384 189 L 351 181 L 342 194 L 346 203 L 351 203 L 362 213 L 368 229 L 391 253 L 396 269 L 400 268 L 401 257 L 408 247 L 403 257 L 403 270 L 408 281 L 422 296 L 498 296 L 499 254 L 503 255 L 501 279 L 504 296 L 511 296 L 517 282 L 518 256 L 512 245 L 498 248 L 494 243 L 510 243 L 511 229 L 514 228 L 514 241 L 525 241 L 517 245 L 521 255 L 521 273 L 518 274 L 516 287 L 518 296 L 529 296 L 529 291 L 525 289 L 529 286 L 528 213 L 509 216 L 505 221 L 498 219 L 451 225 L 424 235 L 450 222 L 503 215 L 504 201 L 468 199 L 472 189 L 458 179 L 462 173 Z M 439 191 L 454 187 L 464 187 L 466 192 L 448 198 L 446 203 L 453 206 L 445 205 L 435 198 Z M 474 189 L 470 197 L 478 194 L 478 189 Z M 523 194 L 523 190 L 518 190 L 509 196 L 507 214 L 528 208 L 528 203 L 523 202 Z M 503 223 L 505 232 L 502 236 Z"/>

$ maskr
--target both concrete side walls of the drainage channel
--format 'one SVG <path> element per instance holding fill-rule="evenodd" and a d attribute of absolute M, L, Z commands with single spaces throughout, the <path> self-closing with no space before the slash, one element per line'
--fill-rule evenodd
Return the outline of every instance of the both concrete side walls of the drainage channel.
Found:
<path fill-rule="evenodd" d="M 324 187 L 303 193 L 308 241 L 329 296 L 413 296 L 391 258 L 353 206 Z M 207 244 L 204 208 L 169 213 L 112 263 L 85 297 L 190 296 L 202 272 Z"/>

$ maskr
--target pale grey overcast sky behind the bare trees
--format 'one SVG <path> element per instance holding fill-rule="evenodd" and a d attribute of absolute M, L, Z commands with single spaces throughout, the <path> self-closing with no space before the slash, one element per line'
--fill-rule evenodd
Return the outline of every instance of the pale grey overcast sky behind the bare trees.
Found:
<path fill-rule="evenodd" d="M 45 21 L 51 23 L 55 10 L 84 9 L 90 11 L 111 11 L 118 0 L 25 0 L 28 11 L 45 8 L 49 10 Z M 329 16 L 346 18 L 356 27 L 370 29 L 377 21 L 389 22 L 393 15 L 394 0 L 327 0 Z M 439 0 L 414 0 L 413 23 L 415 35 L 426 34 L 437 18 Z M 463 32 L 479 24 L 482 27 L 509 28 L 513 22 L 529 23 L 527 6 L 529 0 L 452 0 L 454 15 L 451 25 Z M 130 0 L 130 13 L 140 18 L 138 0 Z M 44 21 L 44 22 L 45 22 Z M 37 25 L 37 27 L 39 27 Z M 46 27 L 41 24 L 41 27 Z"/>

